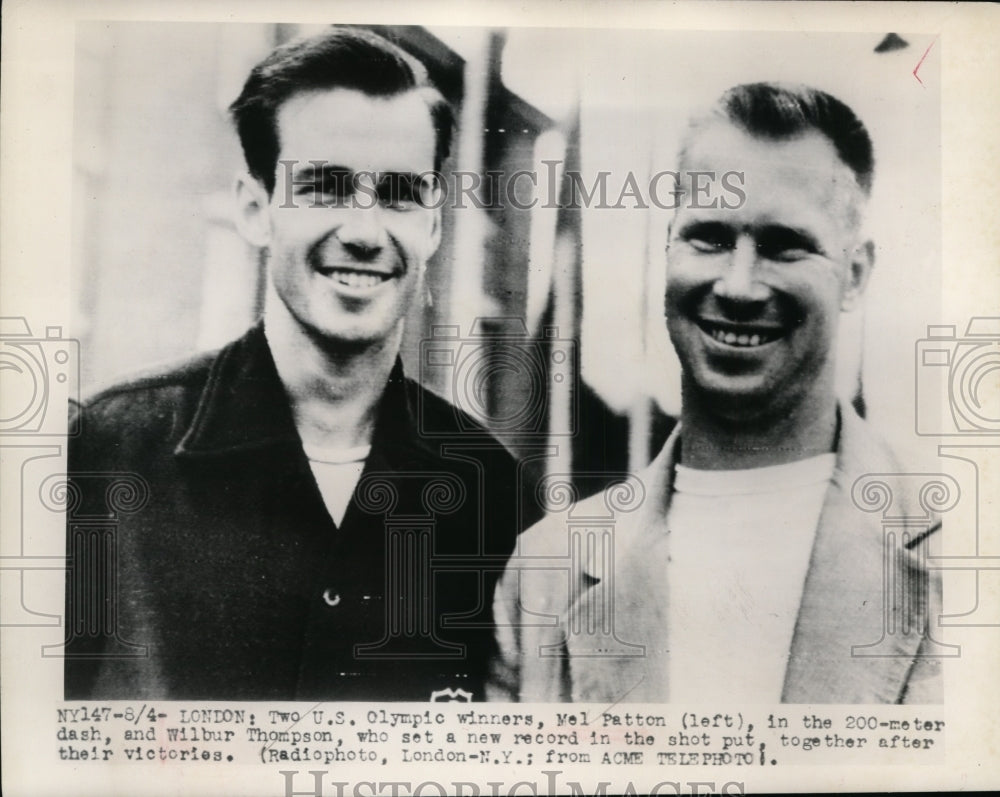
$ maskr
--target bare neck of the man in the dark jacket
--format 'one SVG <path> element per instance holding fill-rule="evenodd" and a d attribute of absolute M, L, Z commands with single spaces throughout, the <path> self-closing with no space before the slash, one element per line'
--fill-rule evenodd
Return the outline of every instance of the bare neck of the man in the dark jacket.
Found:
<path fill-rule="evenodd" d="M 324 448 L 369 444 L 402 329 L 365 345 L 318 340 L 269 295 L 264 332 L 302 441 Z"/>

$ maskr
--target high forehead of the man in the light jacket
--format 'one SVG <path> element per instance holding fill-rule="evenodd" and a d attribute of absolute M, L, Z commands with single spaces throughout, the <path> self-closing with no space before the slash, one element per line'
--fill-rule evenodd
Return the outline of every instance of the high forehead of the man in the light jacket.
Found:
<path fill-rule="evenodd" d="M 713 183 L 726 173 L 741 174 L 746 201 L 731 211 L 737 216 L 839 227 L 857 221 L 863 202 L 854 173 L 815 130 L 773 140 L 711 121 L 692 134 L 681 170 L 712 172 Z"/>

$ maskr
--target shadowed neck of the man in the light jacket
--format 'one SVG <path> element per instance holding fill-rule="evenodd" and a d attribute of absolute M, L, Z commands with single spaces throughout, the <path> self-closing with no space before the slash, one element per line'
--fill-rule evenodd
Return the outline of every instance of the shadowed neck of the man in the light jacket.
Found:
<path fill-rule="evenodd" d="M 684 390 L 681 456 L 699 470 L 742 470 L 783 465 L 834 449 L 837 400 L 826 390 L 818 400 L 799 401 L 772 412 L 721 414 Z"/>

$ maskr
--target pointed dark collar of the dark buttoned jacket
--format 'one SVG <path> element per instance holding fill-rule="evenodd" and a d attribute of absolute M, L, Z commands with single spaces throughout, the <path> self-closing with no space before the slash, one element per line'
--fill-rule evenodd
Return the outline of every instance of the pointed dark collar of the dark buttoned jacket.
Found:
<path fill-rule="evenodd" d="M 372 451 L 381 467 L 437 459 L 417 431 L 417 390 L 406 379 L 397 358 L 379 403 L 372 437 Z M 258 322 L 212 362 L 194 417 L 174 453 L 205 457 L 289 445 L 301 448 L 301 440 L 263 323 Z"/>

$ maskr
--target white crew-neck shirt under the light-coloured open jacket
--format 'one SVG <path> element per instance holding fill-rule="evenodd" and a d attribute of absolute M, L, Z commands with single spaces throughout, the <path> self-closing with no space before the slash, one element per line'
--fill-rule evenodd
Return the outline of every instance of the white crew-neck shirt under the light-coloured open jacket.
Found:
<path fill-rule="evenodd" d="M 834 460 L 676 466 L 667 515 L 671 701 L 780 702 Z"/>

